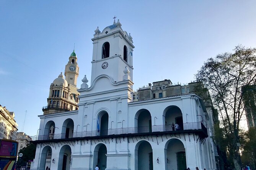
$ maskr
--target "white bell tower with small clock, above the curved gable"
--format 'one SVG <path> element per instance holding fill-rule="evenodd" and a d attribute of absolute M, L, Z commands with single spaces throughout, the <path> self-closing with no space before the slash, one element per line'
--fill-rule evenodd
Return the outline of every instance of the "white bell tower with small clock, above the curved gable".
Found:
<path fill-rule="evenodd" d="M 93 41 L 93 59 L 91 70 L 91 84 L 101 75 L 107 75 L 118 83 L 123 81 L 124 75 L 132 81 L 132 52 L 133 41 L 130 34 L 122 30 L 122 24 L 114 21 L 101 32 L 95 30 Z"/>

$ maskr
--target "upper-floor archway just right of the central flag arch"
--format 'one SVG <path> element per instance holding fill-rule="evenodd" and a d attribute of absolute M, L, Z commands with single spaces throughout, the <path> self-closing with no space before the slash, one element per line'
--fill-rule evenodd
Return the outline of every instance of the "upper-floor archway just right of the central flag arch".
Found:
<path fill-rule="evenodd" d="M 140 109 L 135 114 L 135 126 L 138 127 L 138 133 L 152 132 L 151 114 L 147 109 Z"/>

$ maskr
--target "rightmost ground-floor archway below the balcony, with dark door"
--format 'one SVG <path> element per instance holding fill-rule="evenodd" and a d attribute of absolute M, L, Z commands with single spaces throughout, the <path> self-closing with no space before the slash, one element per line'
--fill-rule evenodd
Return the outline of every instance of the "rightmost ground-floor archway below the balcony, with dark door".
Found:
<path fill-rule="evenodd" d="M 186 152 L 180 140 L 171 139 L 165 144 L 165 156 L 166 169 L 184 170 L 187 168 Z"/>

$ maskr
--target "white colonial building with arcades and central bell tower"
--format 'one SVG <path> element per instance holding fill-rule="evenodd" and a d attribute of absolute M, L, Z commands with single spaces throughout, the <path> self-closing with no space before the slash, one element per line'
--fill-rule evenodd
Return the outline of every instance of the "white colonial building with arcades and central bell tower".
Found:
<path fill-rule="evenodd" d="M 51 152 L 51 170 L 215 170 L 212 113 L 202 99 L 133 101 L 131 35 L 117 21 L 97 28 L 92 41 L 91 85 L 85 76 L 78 110 L 39 115 L 31 169 L 45 169 Z"/>

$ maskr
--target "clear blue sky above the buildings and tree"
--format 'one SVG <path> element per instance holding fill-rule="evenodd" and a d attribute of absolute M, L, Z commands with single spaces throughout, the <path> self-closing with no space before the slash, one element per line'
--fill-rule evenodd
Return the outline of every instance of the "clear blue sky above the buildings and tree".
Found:
<path fill-rule="evenodd" d="M 170 79 L 189 83 L 207 58 L 242 44 L 256 47 L 256 1 L 1 0 L 0 104 L 21 132 L 36 135 L 49 87 L 73 51 L 91 78 L 94 30 L 113 24 L 134 41 L 134 90 Z"/>

